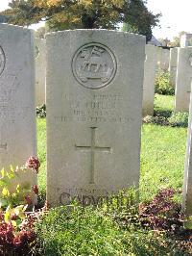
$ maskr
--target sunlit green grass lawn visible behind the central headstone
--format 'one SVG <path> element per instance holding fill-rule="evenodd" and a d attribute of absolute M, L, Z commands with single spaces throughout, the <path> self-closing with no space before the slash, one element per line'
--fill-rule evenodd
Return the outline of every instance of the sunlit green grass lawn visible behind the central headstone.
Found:
<path fill-rule="evenodd" d="M 156 94 L 155 108 L 172 111 L 174 97 Z M 182 188 L 186 128 L 143 124 L 140 200 L 151 199 L 161 188 Z M 39 188 L 46 190 L 46 119 L 37 119 Z"/>

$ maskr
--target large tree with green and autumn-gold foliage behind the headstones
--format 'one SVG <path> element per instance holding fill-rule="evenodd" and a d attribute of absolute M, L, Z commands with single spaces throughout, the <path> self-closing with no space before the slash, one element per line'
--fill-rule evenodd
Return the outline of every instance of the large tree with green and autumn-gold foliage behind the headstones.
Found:
<path fill-rule="evenodd" d="M 8 22 L 29 26 L 47 21 L 49 30 L 117 29 L 125 22 L 129 30 L 151 38 L 159 13 L 148 11 L 145 0 L 12 0 L 3 12 Z"/>

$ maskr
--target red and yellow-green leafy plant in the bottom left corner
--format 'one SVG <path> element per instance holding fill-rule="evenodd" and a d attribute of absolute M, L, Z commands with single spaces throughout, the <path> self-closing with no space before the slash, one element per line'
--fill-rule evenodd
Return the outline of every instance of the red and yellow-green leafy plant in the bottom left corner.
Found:
<path fill-rule="evenodd" d="M 30 157 L 25 166 L 1 170 L 0 178 L 0 255 L 28 255 L 36 241 L 34 223 L 38 214 L 26 214 L 33 204 L 32 196 L 37 186 L 20 186 L 16 179 L 27 169 L 38 172 L 39 161 Z M 12 190 L 16 184 L 16 189 Z M 36 216 L 34 216 L 36 215 Z"/>

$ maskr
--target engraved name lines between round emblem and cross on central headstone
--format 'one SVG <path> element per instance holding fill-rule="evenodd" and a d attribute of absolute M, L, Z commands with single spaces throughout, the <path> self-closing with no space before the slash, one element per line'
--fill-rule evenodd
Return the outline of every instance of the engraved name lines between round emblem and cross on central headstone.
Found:
<path fill-rule="evenodd" d="M 128 124 L 134 119 L 125 115 L 124 102 L 126 99 L 121 94 L 91 94 L 89 99 L 81 95 L 69 93 L 62 95 L 69 106 L 67 113 L 53 115 L 56 122 L 111 122 Z M 96 124 L 89 124 L 96 125 Z"/>

